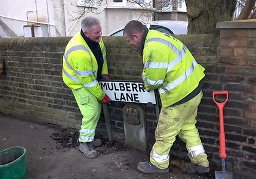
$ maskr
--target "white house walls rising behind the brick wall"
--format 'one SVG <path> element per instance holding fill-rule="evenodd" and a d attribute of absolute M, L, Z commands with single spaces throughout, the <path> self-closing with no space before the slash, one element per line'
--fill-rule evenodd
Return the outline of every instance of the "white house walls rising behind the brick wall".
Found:
<path fill-rule="evenodd" d="M 0 0 L 0 15 L 4 15 L 11 18 L 18 18 L 21 20 L 27 20 L 27 11 L 29 12 L 28 19 L 32 21 L 41 21 L 45 23 L 55 24 L 60 30 L 63 36 L 68 34 L 73 36 L 76 32 L 81 30 L 81 20 L 75 21 L 73 17 L 78 17 L 78 13 L 81 12 L 83 7 L 76 7 L 75 1 L 78 0 Z M 131 4 L 127 0 L 123 0 L 124 3 L 114 3 L 113 0 L 103 0 L 102 4 L 98 8 L 93 8 L 96 13 L 88 13 L 86 15 L 94 15 L 101 21 L 103 29 L 103 35 L 109 34 L 113 30 L 119 27 L 125 26 L 130 20 L 147 21 L 148 17 L 145 16 L 144 10 L 137 4 Z M 150 0 L 147 0 L 150 1 Z M 36 5 L 35 5 L 36 2 Z M 48 14 L 47 14 L 47 2 L 48 2 Z M 66 4 L 66 7 L 65 5 Z M 37 6 L 37 9 L 36 9 Z M 66 9 L 66 11 L 64 11 Z M 38 17 L 36 17 L 36 10 Z M 152 15 L 152 13 L 149 13 Z M 73 16 L 73 17 L 72 17 Z M 0 17 L 14 33 L 18 36 L 23 36 L 23 26 L 27 25 L 24 21 L 11 20 L 8 18 Z M 152 18 L 152 17 L 150 17 Z M 76 22 L 76 23 L 75 23 Z M 75 26 L 72 25 L 75 23 Z M 31 23 L 29 23 L 31 24 Z M 72 29 L 71 29 L 72 28 Z M 55 30 L 55 27 L 50 27 L 50 36 L 60 36 Z"/>

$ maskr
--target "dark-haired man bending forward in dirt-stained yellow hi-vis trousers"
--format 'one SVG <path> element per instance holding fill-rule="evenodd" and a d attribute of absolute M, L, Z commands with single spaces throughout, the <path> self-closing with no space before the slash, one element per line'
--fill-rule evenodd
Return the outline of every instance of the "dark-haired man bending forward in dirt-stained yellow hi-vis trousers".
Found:
<path fill-rule="evenodd" d="M 178 135 L 186 143 L 191 161 L 186 171 L 208 172 L 209 162 L 195 126 L 205 68 L 178 39 L 148 30 L 139 21 L 125 26 L 124 37 L 129 45 L 140 49 L 143 84 L 147 91 L 158 89 L 162 102 L 150 161 L 140 162 L 138 169 L 147 174 L 168 172 L 169 152 Z"/>

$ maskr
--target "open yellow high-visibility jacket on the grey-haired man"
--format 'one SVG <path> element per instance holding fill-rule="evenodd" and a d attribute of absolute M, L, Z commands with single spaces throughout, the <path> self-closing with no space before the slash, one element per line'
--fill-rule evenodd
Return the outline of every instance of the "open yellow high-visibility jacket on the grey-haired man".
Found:
<path fill-rule="evenodd" d="M 101 74 L 109 74 L 106 48 L 102 39 L 99 45 L 104 60 Z M 100 101 L 104 98 L 104 92 L 96 80 L 97 71 L 98 64 L 94 54 L 81 36 L 81 33 L 76 33 L 67 44 L 63 56 L 62 78 L 64 83 L 72 90 L 85 87 Z"/>

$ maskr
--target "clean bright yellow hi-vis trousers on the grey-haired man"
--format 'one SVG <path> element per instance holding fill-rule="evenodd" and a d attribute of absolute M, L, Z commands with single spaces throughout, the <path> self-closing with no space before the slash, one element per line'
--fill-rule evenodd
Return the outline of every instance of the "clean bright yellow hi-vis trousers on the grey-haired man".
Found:
<path fill-rule="evenodd" d="M 100 118 L 101 103 L 87 89 L 72 90 L 83 116 L 79 142 L 92 142 Z"/>

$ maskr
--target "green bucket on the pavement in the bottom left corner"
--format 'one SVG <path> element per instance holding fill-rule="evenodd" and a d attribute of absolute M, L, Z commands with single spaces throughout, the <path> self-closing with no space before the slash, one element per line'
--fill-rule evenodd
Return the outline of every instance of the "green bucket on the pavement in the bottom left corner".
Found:
<path fill-rule="evenodd" d="M 1 179 L 23 179 L 26 174 L 26 149 L 24 147 L 11 147 L 0 152 Z"/>

